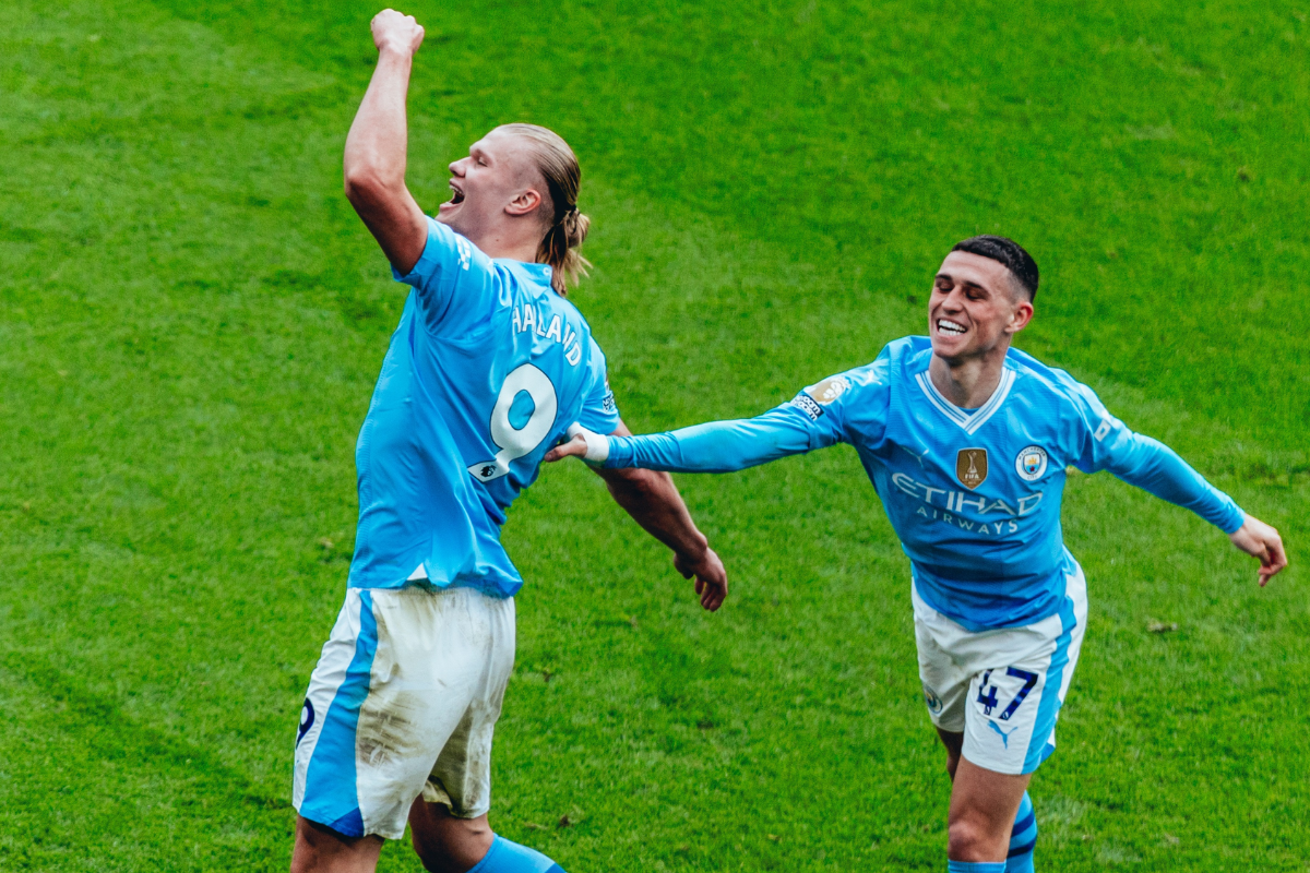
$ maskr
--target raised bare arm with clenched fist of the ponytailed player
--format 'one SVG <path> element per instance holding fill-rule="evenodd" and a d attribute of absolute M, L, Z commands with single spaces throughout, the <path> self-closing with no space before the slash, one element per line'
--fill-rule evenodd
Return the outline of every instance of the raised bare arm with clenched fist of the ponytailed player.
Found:
<path fill-rule="evenodd" d="M 405 98 L 423 27 L 413 16 L 386 9 L 373 18 L 372 30 L 377 68 L 346 136 L 346 196 L 388 260 L 407 274 L 427 245 L 427 220 L 405 186 Z"/>

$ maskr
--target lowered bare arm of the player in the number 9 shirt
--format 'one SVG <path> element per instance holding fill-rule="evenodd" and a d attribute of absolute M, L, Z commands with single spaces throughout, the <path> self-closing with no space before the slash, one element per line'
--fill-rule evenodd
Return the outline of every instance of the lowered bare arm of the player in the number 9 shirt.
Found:
<path fill-rule="evenodd" d="M 614 436 L 631 436 L 621 421 Z M 652 470 L 597 470 L 614 503 L 622 507 L 646 533 L 673 550 L 673 567 L 684 579 L 696 577 L 701 606 L 717 610 L 728 593 L 723 561 L 696 527 L 692 514 L 667 472 Z"/>

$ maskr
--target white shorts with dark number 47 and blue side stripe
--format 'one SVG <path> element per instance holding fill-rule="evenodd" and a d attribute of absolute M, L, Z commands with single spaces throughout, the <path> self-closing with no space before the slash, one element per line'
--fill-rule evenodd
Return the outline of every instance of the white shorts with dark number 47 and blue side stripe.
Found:
<path fill-rule="evenodd" d="M 1056 750 L 1056 719 L 1087 624 L 1082 568 L 1065 576 L 1055 615 L 968 631 L 913 590 L 918 677 L 933 724 L 964 734 L 963 755 L 998 774 L 1031 774 Z"/>

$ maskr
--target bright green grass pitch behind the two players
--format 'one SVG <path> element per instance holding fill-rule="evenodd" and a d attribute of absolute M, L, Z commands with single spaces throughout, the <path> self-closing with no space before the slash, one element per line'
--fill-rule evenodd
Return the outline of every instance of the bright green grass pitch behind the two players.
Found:
<path fill-rule="evenodd" d="M 964 236 L 1028 246 L 1019 344 L 1293 559 L 1259 590 L 1204 522 L 1073 478 L 1091 619 L 1034 780 L 1038 864 L 1306 869 L 1303 4 L 403 9 L 428 27 L 424 208 L 496 123 L 576 148 L 576 301 L 637 431 L 761 411 L 922 332 Z M 0 4 L 0 870 L 286 868 L 403 296 L 341 194 L 373 12 Z M 908 565 L 854 453 L 679 482 L 732 573 L 717 615 L 579 465 L 512 513 L 494 825 L 578 873 L 945 869 Z M 419 866 L 389 844 L 381 869 Z"/>

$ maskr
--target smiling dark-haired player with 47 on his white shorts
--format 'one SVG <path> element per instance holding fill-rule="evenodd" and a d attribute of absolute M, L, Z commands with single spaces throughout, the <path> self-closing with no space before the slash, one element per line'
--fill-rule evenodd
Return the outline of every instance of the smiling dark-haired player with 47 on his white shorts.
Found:
<path fill-rule="evenodd" d="M 583 424 L 546 455 L 723 472 L 855 448 L 910 559 L 924 698 L 954 780 L 948 869 L 960 873 L 1034 869 L 1028 780 L 1055 750 L 1087 622 L 1060 527 L 1068 467 L 1108 470 L 1197 513 L 1260 560 L 1260 585 L 1286 565 L 1273 527 L 1129 431 L 1090 387 L 1011 348 L 1036 293 L 1027 251 L 973 237 L 937 271 L 927 336 L 889 343 L 755 419 L 630 438 Z"/>

